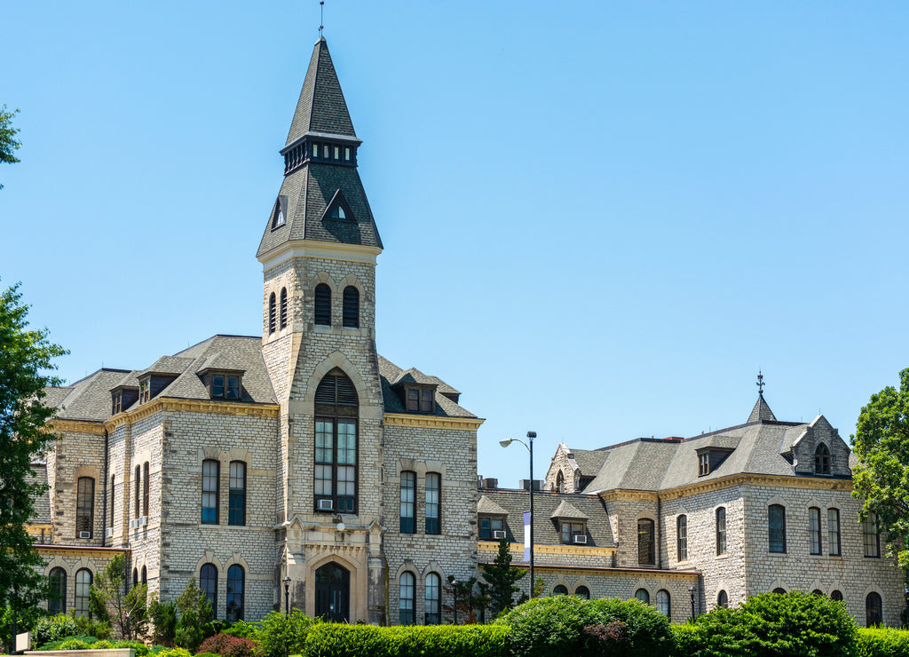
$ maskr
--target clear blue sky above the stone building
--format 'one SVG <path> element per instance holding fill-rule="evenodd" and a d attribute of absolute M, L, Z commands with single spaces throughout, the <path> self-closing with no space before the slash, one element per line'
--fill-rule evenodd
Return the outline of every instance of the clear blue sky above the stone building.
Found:
<path fill-rule="evenodd" d="M 75 381 L 260 334 L 255 249 L 318 4 L 4 6 L 0 278 Z M 844 438 L 909 366 L 909 5 L 327 0 L 385 253 L 378 348 L 516 485 L 777 417 Z M 520 450 L 520 451 L 519 451 Z"/>

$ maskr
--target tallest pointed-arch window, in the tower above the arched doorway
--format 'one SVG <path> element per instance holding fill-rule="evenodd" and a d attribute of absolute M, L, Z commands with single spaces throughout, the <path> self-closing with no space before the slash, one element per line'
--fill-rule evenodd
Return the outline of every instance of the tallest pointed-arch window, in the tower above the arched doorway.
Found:
<path fill-rule="evenodd" d="M 354 383 L 340 369 L 325 374 L 315 390 L 315 510 L 356 513 Z"/>

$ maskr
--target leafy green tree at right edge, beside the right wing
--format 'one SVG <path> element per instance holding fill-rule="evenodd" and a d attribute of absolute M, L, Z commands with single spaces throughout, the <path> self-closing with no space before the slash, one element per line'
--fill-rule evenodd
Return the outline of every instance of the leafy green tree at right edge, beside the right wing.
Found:
<path fill-rule="evenodd" d="M 897 556 L 909 582 L 909 369 L 900 389 L 887 386 L 859 414 L 852 436 L 853 495 L 864 498 L 860 517 L 877 516 L 888 552 Z"/>

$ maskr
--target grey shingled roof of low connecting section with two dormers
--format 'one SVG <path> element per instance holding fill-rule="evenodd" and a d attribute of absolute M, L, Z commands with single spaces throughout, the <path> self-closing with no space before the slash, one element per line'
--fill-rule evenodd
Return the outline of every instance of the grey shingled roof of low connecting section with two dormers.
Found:
<path fill-rule="evenodd" d="M 512 543 L 524 543 L 524 512 L 530 511 L 530 496 L 526 491 L 506 489 L 486 490 L 483 497 L 502 507 L 506 513 L 505 532 Z M 482 500 L 483 498 L 481 498 Z M 614 547 L 612 529 L 606 507 L 599 497 L 580 493 L 534 492 L 534 544 L 561 545 L 559 525 L 553 516 L 563 503 L 582 513 L 587 521 L 587 545 Z M 479 506 L 479 505 L 477 505 Z"/>

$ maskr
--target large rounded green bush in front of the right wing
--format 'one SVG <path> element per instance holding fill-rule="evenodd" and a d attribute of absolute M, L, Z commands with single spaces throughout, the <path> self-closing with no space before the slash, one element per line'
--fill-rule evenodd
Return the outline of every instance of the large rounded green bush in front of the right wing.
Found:
<path fill-rule="evenodd" d="M 843 602 L 803 592 L 755 595 L 738 609 L 716 608 L 697 619 L 704 655 L 849 657 L 855 622 Z"/>

